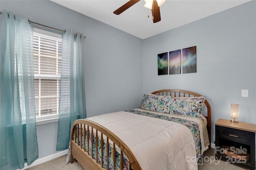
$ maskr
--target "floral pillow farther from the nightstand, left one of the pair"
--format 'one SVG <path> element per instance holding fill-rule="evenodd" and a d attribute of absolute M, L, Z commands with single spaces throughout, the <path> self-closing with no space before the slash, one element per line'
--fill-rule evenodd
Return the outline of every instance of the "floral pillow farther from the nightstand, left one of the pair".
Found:
<path fill-rule="evenodd" d="M 144 94 L 140 108 L 168 114 L 170 112 L 169 109 L 171 98 L 172 96 L 156 96 L 152 94 Z"/>

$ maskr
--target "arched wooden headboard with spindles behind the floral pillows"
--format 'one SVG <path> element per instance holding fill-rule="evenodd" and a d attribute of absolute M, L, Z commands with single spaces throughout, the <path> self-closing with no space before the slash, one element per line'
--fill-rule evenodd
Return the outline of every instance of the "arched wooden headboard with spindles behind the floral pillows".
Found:
<path fill-rule="evenodd" d="M 157 90 L 155 92 L 152 92 L 151 94 L 155 95 L 162 95 L 162 96 L 173 96 L 173 97 L 200 97 L 202 95 L 190 92 L 187 90 L 178 90 L 178 89 L 165 89 L 165 90 Z M 207 116 L 204 115 L 207 119 L 207 131 L 208 131 L 208 137 L 209 141 L 211 143 L 211 127 L 212 127 L 212 110 L 209 102 L 207 100 L 204 101 L 205 106 L 207 107 Z M 209 148 L 211 148 L 209 146 Z"/>

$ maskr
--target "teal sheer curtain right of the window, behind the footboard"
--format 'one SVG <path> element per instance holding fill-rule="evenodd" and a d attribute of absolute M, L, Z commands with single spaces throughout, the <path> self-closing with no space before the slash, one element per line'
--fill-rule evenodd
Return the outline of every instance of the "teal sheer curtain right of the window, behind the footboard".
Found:
<path fill-rule="evenodd" d="M 70 128 L 76 119 L 86 118 L 83 34 L 66 30 L 62 34 L 60 107 L 56 150 L 68 149 Z"/>

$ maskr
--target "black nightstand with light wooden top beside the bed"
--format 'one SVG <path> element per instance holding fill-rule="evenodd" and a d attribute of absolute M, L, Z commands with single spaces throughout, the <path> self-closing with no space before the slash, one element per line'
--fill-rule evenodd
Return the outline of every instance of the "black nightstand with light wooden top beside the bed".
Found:
<path fill-rule="evenodd" d="M 228 163 L 242 163 L 255 170 L 255 133 L 256 125 L 250 123 L 231 123 L 230 120 L 218 119 L 215 122 L 215 156 Z M 230 152 L 226 152 L 227 147 Z M 250 154 L 249 160 L 239 160 L 233 154 Z M 246 157 L 248 158 L 248 157 Z"/>

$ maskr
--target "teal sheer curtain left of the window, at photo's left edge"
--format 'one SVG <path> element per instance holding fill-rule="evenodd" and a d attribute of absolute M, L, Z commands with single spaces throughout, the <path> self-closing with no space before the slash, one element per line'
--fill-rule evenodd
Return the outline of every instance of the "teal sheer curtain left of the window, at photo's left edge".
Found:
<path fill-rule="evenodd" d="M 3 12 L 0 40 L 0 169 L 38 158 L 34 102 L 33 27 Z"/>

